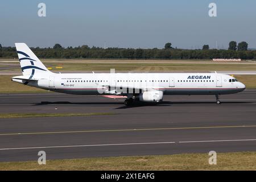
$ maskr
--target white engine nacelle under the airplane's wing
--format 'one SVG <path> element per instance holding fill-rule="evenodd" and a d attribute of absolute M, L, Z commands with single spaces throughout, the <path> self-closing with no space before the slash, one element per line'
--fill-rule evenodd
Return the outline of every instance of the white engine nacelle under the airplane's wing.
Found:
<path fill-rule="evenodd" d="M 147 91 L 139 94 L 139 101 L 142 102 L 159 102 L 163 100 L 162 91 Z"/>

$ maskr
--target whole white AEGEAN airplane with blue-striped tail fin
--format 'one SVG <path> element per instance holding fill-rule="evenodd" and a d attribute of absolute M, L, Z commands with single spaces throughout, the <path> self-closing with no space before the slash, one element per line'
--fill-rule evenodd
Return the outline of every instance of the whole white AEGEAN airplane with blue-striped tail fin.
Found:
<path fill-rule="evenodd" d="M 134 101 L 161 102 L 164 95 L 214 95 L 245 90 L 245 85 L 220 73 L 53 73 L 25 43 L 15 43 L 22 76 L 13 81 L 53 92 L 81 95 L 125 97 L 125 105 Z"/>

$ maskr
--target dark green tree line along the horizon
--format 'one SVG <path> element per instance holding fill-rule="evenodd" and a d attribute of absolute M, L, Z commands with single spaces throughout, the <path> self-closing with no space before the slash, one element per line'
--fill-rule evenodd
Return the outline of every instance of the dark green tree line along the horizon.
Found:
<path fill-rule="evenodd" d="M 229 43 L 228 49 L 209 49 L 204 45 L 202 49 L 179 49 L 166 43 L 163 49 L 152 48 L 100 48 L 100 47 L 67 47 L 55 44 L 52 48 L 31 47 L 38 57 L 65 58 L 65 59 L 256 59 L 256 50 L 247 50 L 246 42 Z M 15 47 L 2 47 L 0 44 L 0 57 L 18 58 Z"/>

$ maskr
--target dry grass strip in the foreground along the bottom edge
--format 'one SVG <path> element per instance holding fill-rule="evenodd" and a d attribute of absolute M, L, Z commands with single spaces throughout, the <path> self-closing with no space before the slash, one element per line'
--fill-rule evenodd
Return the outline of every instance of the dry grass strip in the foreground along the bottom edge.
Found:
<path fill-rule="evenodd" d="M 256 152 L 217 153 L 209 165 L 208 154 L 121 156 L 0 163 L 0 170 L 256 170 Z"/>

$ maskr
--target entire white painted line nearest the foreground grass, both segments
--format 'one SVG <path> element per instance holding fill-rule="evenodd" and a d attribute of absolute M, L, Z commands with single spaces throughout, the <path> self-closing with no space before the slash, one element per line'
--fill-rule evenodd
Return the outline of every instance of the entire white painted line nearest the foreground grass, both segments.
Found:
<path fill-rule="evenodd" d="M 201 141 L 148 142 L 148 143 L 110 143 L 110 144 L 84 144 L 84 145 L 73 145 L 73 146 L 17 147 L 17 148 L 0 148 L 0 151 L 3 151 L 3 150 L 27 150 L 27 149 L 38 149 L 38 148 L 103 147 L 103 146 L 127 146 L 127 145 L 143 145 L 143 144 L 174 144 L 174 143 L 203 143 L 203 142 L 246 142 L 246 141 L 256 141 L 256 139 L 201 140 Z"/>

